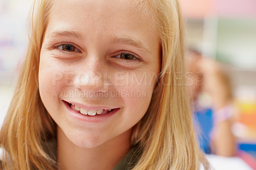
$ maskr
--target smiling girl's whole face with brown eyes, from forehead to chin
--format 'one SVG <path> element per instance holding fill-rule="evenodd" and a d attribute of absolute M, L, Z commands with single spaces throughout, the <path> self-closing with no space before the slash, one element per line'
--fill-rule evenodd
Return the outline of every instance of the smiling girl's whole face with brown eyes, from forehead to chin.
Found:
<path fill-rule="evenodd" d="M 161 47 L 154 23 L 137 8 L 129 0 L 57 0 L 52 6 L 40 54 L 40 97 L 77 146 L 131 135 L 148 109 Z"/>

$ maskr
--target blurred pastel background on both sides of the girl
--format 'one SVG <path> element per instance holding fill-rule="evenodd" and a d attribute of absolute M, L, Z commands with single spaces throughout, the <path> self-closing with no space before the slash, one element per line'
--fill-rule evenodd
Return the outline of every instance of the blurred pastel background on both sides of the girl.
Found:
<path fill-rule="evenodd" d="M 0 126 L 26 51 L 32 0 L 0 0 Z M 216 59 L 227 73 L 239 114 L 237 148 L 256 158 L 256 1 L 180 0 L 186 47 Z"/>

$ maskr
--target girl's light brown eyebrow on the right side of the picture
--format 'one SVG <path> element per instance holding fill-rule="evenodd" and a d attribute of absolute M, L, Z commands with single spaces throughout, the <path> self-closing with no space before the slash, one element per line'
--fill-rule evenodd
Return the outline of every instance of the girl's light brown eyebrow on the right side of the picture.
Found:
<path fill-rule="evenodd" d="M 133 38 L 115 38 L 113 40 L 113 43 L 126 43 L 126 44 L 129 44 L 129 45 L 138 47 L 138 48 L 140 48 L 142 50 L 145 50 L 145 51 L 150 53 L 150 50 L 145 45 L 143 45 L 142 42 L 140 42 L 138 40 L 134 40 Z"/>

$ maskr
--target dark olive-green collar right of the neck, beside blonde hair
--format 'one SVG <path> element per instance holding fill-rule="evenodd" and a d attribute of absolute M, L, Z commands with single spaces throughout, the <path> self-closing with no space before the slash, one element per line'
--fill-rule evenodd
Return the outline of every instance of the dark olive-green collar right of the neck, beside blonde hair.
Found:
<path fill-rule="evenodd" d="M 113 170 L 129 170 L 132 169 L 134 166 L 136 166 L 138 160 L 140 159 L 141 151 L 138 147 L 138 144 L 136 146 L 133 146 L 131 150 L 127 153 L 127 155 L 122 158 L 116 164 L 116 166 L 113 168 Z"/>

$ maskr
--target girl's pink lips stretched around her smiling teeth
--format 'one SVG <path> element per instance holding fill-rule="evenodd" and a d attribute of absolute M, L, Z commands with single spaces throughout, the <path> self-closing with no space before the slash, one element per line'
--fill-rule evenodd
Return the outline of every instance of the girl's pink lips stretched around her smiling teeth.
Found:
<path fill-rule="evenodd" d="M 118 112 L 120 110 L 120 108 L 116 108 L 116 109 L 112 108 L 113 111 L 108 112 L 107 114 L 99 114 L 99 115 L 97 114 L 95 116 L 88 116 L 88 115 L 81 114 L 80 112 L 74 111 L 68 105 L 68 102 L 66 102 L 65 100 L 63 100 L 62 102 L 65 105 L 65 107 L 68 111 L 68 114 L 70 116 L 72 116 L 72 118 L 74 118 L 75 120 L 81 121 L 83 123 L 102 123 L 104 121 L 107 121 L 112 116 L 114 116 L 116 114 L 116 112 Z M 72 103 L 72 104 L 74 104 L 74 103 Z M 81 107 L 81 105 L 78 105 L 78 106 Z M 109 107 L 83 107 L 83 108 L 91 108 L 92 110 L 97 110 L 97 109 L 101 109 L 101 108 L 106 109 L 106 108 L 109 108 Z M 111 109 L 111 108 L 109 108 L 109 109 Z"/>

